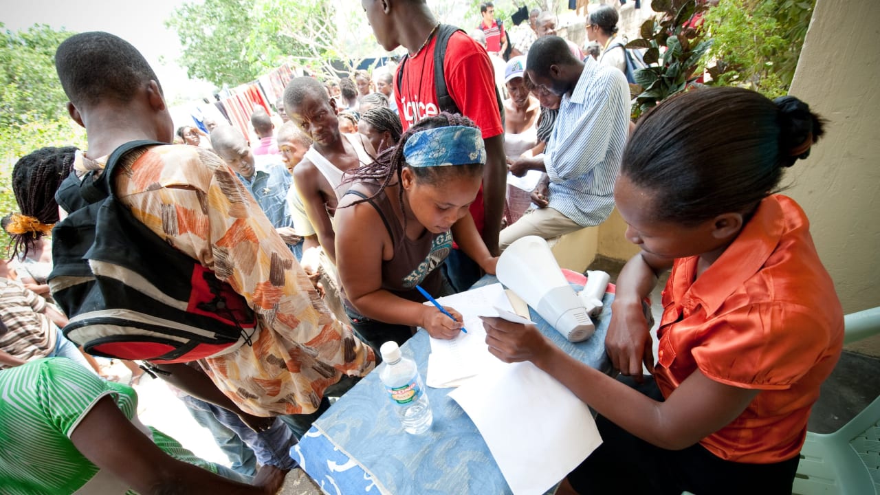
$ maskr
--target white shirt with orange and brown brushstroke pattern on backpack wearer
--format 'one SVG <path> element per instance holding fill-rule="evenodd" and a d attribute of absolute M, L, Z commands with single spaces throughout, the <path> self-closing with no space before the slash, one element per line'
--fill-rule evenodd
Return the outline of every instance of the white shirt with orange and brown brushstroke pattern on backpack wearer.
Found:
<path fill-rule="evenodd" d="M 242 410 L 311 413 L 343 373 L 363 376 L 375 366 L 373 351 L 326 309 L 253 196 L 216 154 L 187 145 L 129 153 L 117 166 L 114 191 L 135 218 L 213 270 L 257 314 L 253 345 L 205 359 L 216 386 Z"/>

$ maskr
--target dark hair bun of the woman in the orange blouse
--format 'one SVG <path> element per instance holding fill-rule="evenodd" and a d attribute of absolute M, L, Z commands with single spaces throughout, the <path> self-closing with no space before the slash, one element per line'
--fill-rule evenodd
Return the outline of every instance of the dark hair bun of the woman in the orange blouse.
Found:
<path fill-rule="evenodd" d="M 778 110 L 780 166 L 795 165 L 810 156 L 810 147 L 825 133 L 825 121 L 794 96 L 774 100 Z"/>

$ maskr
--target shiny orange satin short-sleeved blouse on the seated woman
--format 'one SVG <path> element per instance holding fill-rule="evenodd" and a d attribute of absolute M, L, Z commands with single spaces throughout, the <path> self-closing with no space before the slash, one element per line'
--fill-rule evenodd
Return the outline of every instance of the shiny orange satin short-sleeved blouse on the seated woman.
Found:
<path fill-rule="evenodd" d="M 711 380 L 759 389 L 700 444 L 735 462 L 791 459 L 843 346 L 843 310 L 810 223 L 791 198 L 767 197 L 694 281 L 696 269 L 696 256 L 678 259 L 666 284 L 657 385 L 668 397 L 700 369 Z"/>

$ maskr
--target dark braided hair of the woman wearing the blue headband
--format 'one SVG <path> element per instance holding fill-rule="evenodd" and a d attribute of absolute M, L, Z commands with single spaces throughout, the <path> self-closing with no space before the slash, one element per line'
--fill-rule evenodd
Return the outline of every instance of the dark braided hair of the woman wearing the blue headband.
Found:
<path fill-rule="evenodd" d="M 415 123 L 413 127 L 407 129 L 407 132 L 400 137 L 400 141 L 396 146 L 385 148 L 384 151 L 379 153 L 378 157 L 372 163 L 359 166 L 350 173 L 346 172 L 343 182 L 373 181 L 378 182 L 379 184 L 376 194 L 359 199 L 348 206 L 354 206 L 357 203 L 370 201 L 376 196 L 382 194 L 388 186 L 400 184 L 400 173 L 403 172 L 403 167 L 407 166 L 407 161 L 403 156 L 403 148 L 406 146 L 409 137 L 422 130 L 450 126 L 477 127 L 471 119 L 464 115 L 443 112 L 440 115 L 425 117 L 421 121 Z M 418 166 L 411 168 L 410 170 L 412 170 L 413 175 L 418 181 L 436 186 L 452 174 L 458 176 L 482 174 L 483 165 L 481 163 L 472 163 L 458 166 Z M 398 196 L 402 207 L 404 204 L 403 188 L 399 189 Z M 348 208 L 348 206 L 343 208 Z M 406 216 L 404 216 L 404 221 L 406 221 Z"/>

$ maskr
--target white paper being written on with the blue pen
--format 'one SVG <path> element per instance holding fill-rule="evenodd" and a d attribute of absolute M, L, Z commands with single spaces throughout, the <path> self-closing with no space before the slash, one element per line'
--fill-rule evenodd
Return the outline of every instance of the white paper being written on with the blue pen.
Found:
<path fill-rule="evenodd" d="M 467 379 L 500 361 L 489 353 L 486 330 L 479 316 L 497 316 L 495 307 L 513 312 L 502 284 L 491 284 L 471 291 L 437 299 L 464 316 L 467 333 L 451 340 L 430 338 L 426 383 L 433 388 L 458 387 Z M 426 303 L 430 304 L 430 303 Z"/>

